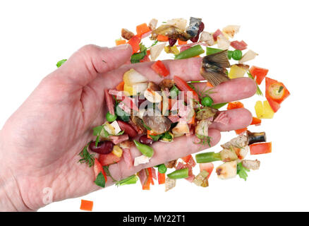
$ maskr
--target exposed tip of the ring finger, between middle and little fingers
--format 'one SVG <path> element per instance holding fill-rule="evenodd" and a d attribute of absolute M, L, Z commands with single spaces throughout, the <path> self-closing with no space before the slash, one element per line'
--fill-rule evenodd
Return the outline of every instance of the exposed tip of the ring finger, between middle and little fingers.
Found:
<path fill-rule="evenodd" d="M 210 125 L 210 128 L 219 131 L 231 131 L 246 128 L 251 124 L 252 114 L 246 108 L 231 109 L 225 112 L 229 118 L 229 124 L 213 122 Z"/>

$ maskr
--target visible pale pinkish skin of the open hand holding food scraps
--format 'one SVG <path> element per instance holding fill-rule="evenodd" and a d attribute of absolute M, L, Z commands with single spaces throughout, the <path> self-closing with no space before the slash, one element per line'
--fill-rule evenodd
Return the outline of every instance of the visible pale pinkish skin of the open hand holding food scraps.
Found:
<path fill-rule="evenodd" d="M 125 71 L 134 68 L 150 81 L 162 81 L 151 62 L 126 64 L 132 49 L 87 45 L 73 54 L 63 66 L 46 76 L 27 100 L 6 121 L 0 131 L 0 210 L 30 211 L 42 208 L 43 189 L 53 191 L 53 201 L 83 196 L 99 189 L 92 168 L 78 163 L 80 150 L 93 140 L 92 128 L 104 122 L 107 106 L 104 89 L 114 88 Z M 201 59 L 164 61 L 168 78 L 180 76 L 186 81 L 203 80 Z M 199 83 L 204 88 L 205 83 Z M 230 102 L 255 94 L 250 78 L 237 78 L 218 85 L 210 95 L 214 102 Z M 230 123 L 212 124 L 211 145 L 220 140 L 221 131 L 241 129 L 251 123 L 246 109 L 228 112 Z M 115 179 L 123 179 L 140 169 L 158 165 L 208 148 L 193 143 L 195 136 L 176 138 L 173 143 L 154 143 L 150 163 L 128 168 L 121 160 L 109 170 Z M 133 157 L 140 155 L 131 148 Z M 107 185 L 111 185 L 108 179 Z"/>

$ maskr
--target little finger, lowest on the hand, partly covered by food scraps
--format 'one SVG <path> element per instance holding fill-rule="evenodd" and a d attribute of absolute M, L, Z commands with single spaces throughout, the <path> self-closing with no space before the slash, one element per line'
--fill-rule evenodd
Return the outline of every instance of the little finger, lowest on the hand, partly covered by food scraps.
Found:
<path fill-rule="evenodd" d="M 220 132 L 216 129 L 210 129 L 209 136 L 211 137 L 211 147 L 216 145 L 221 138 Z M 200 140 L 194 135 L 175 138 L 174 142 L 171 143 L 155 142 L 152 144 L 152 148 L 154 149 L 154 155 L 150 159 L 149 163 L 128 168 L 126 162 L 124 162 L 124 160 L 121 160 L 117 164 L 110 165 L 109 171 L 111 172 L 111 176 L 114 177 L 114 179 L 123 179 L 131 176 L 132 174 L 135 174 L 136 172 L 139 172 L 141 169 L 153 167 L 155 165 L 169 162 L 171 160 L 176 160 L 179 157 L 185 157 L 186 155 L 190 155 L 200 150 L 205 150 L 209 148 L 207 143 L 196 144 L 199 142 Z M 133 160 L 135 157 L 138 157 L 140 155 L 141 153 L 137 148 L 131 148 L 131 156 Z"/>

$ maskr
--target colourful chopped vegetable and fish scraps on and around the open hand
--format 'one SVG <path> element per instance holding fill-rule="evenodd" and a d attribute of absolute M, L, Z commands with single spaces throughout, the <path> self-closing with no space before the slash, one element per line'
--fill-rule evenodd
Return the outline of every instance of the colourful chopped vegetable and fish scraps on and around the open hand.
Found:
<path fill-rule="evenodd" d="M 183 156 L 142 169 L 121 181 L 111 177 L 109 166 L 121 160 L 128 168 L 150 162 L 156 152 L 152 148 L 155 142 L 173 142 L 177 137 L 194 134 L 198 144 L 210 147 L 210 124 L 229 124 L 229 117 L 219 109 L 226 105 L 227 109 L 243 107 L 241 102 L 214 105 L 210 93 L 220 83 L 248 76 L 256 82 L 256 94 L 263 96 L 259 85 L 265 80 L 266 100 L 255 104 L 256 117 L 251 123 L 255 126 L 262 123 L 261 119 L 272 119 L 281 102 L 290 95 L 283 83 L 267 76 L 268 69 L 248 65 L 247 62 L 258 54 L 247 49 L 243 40 L 232 40 L 240 26 L 228 25 L 222 30 L 207 32 L 202 19 L 193 17 L 189 21 L 183 18 L 167 20 L 159 27 L 157 23 L 158 20 L 152 19 L 149 24 L 138 25 L 136 32 L 123 28 L 122 38 L 116 40 L 116 45 L 131 44 L 131 64 L 152 61 L 151 68 L 161 82 L 153 83 L 132 68 L 123 74 L 123 81 L 114 89 L 105 90 L 109 112 L 104 116 L 104 124 L 93 129 L 93 141 L 80 152 L 80 162 L 93 167 L 95 184 L 102 187 L 108 179 L 117 186 L 135 184 L 140 179 L 143 190 L 149 190 L 156 179 L 158 184 L 165 184 L 165 191 L 174 188 L 177 179 L 207 187 L 214 161 L 223 162 L 215 169 L 219 179 L 238 175 L 246 180 L 250 169 L 260 167 L 260 161 L 245 159 L 249 150 L 250 155 L 272 152 L 272 143 L 267 142 L 265 132 L 250 132 L 248 128 L 236 130 L 238 136 L 222 144 L 219 153 L 199 153 L 195 159 L 192 155 Z M 153 41 L 150 47 L 143 44 L 147 39 Z M 158 59 L 162 52 L 169 54 L 171 59 L 202 57 L 200 74 L 207 81 L 208 88 L 196 90 L 192 84 L 200 81 L 186 82 L 178 76 L 166 79 L 169 70 L 164 61 Z M 57 66 L 65 61 L 59 61 Z M 140 151 L 134 159 L 130 151 L 132 146 Z M 196 163 L 200 167 L 197 175 L 193 174 Z"/>

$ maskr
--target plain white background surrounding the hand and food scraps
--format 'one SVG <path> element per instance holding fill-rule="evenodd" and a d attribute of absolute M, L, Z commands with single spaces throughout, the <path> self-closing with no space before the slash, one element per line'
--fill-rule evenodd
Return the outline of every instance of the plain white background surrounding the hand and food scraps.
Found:
<path fill-rule="evenodd" d="M 245 40 L 260 54 L 249 64 L 269 69 L 269 77 L 284 82 L 291 96 L 274 119 L 251 131 L 266 131 L 273 153 L 252 156 L 261 167 L 247 182 L 210 177 L 201 188 L 178 181 L 142 191 L 140 182 L 114 186 L 84 196 L 95 211 L 309 210 L 308 208 L 308 6 L 307 1 L 1 1 L 0 4 L 0 128 L 56 62 L 84 44 L 111 47 L 121 28 L 157 18 L 202 18 L 205 30 L 241 25 L 235 40 Z M 264 83 L 261 85 L 265 90 Z M 256 100 L 243 101 L 255 115 Z M 222 143 L 235 136 L 222 134 Z M 219 145 L 212 151 L 219 151 Z M 219 165 L 216 162 L 215 166 Z M 63 172 L 65 173 L 65 172 Z M 42 211 L 80 211 L 80 198 Z"/>

